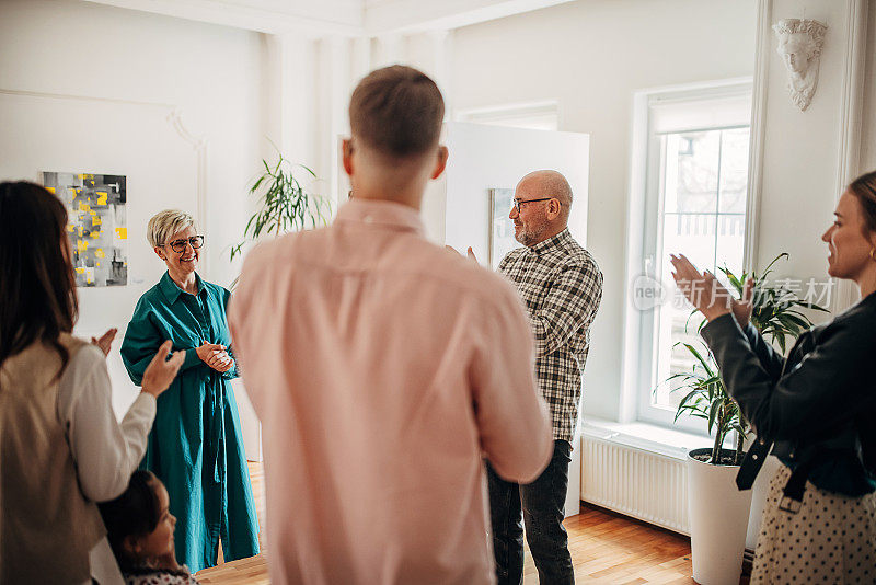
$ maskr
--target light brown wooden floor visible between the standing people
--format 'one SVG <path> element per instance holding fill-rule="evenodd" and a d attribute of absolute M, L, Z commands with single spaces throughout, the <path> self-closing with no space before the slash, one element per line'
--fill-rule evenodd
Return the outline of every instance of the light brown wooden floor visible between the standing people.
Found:
<path fill-rule="evenodd" d="M 258 520 L 264 526 L 264 490 L 261 463 L 250 463 Z M 569 551 L 576 583 L 695 583 L 691 578 L 690 539 L 601 508 L 581 505 L 581 513 L 567 518 Z M 197 574 L 203 584 L 268 584 L 269 554 L 262 554 L 206 569 Z M 538 584 L 529 550 L 523 567 L 525 585 Z"/>

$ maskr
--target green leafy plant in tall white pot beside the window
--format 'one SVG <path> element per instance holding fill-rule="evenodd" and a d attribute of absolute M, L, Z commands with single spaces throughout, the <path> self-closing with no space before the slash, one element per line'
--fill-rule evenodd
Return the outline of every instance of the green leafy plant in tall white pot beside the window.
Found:
<path fill-rule="evenodd" d="M 744 273 L 737 277 L 726 267 L 721 272 L 739 297 L 749 276 L 753 279 L 751 324 L 784 353 L 788 340 L 796 340 L 812 325 L 800 309 L 822 312 L 827 309 L 800 299 L 789 289 L 788 283 L 769 284 L 773 266 L 782 259 L 787 259 L 787 254 L 776 256 L 762 274 Z M 698 332 L 704 324 L 705 321 L 699 324 Z M 680 382 L 673 391 L 685 392 L 676 411 L 676 421 L 682 414 L 704 418 L 710 435 L 715 437 L 711 447 L 688 454 L 693 578 L 703 585 L 735 585 L 742 569 L 753 490 L 738 491 L 734 479 L 745 455 L 744 443 L 750 425 L 727 393 L 707 347 L 682 345 L 693 356 L 694 365 L 690 371 L 676 374 L 667 380 Z M 736 443 L 733 449 L 727 449 L 724 443 L 731 431 L 736 433 Z M 764 486 L 765 481 L 756 497 L 754 539 L 765 500 Z"/>

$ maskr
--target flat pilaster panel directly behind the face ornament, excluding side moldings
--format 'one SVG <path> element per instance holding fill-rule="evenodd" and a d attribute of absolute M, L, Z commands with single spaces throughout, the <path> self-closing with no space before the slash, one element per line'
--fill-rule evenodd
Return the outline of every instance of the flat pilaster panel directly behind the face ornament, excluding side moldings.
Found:
<path fill-rule="evenodd" d="M 764 53 L 769 70 L 763 117 L 763 182 L 758 230 L 757 265 L 764 266 L 780 252 L 791 253 L 779 276 L 823 279 L 827 249 L 821 233 L 833 220 L 839 196 L 837 159 L 840 148 L 840 107 L 843 30 L 848 2 L 775 0 L 771 22 L 806 18 L 828 24 L 818 88 L 811 105 L 800 112 L 791 102 L 787 74 L 770 34 Z M 794 220 L 788 221 L 793 210 Z"/>

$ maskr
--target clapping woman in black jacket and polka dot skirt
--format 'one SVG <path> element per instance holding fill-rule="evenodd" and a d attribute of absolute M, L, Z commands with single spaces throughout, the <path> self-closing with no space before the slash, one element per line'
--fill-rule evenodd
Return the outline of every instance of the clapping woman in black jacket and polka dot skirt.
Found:
<path fill-rule="evenodd" d="M 708 320 L 702 336 L 727 391 L 754 427 L 737 484 L 770 452 L 770 484 L 751 583 L 876 583 L 876 172 L 840 197 L 821 236 L 828 273 L 861 301 L 797 340 L 787 357 L 750 323 L 751 287 L 735 300 L 708 272 L 672 256 L 672 274 Z"/>

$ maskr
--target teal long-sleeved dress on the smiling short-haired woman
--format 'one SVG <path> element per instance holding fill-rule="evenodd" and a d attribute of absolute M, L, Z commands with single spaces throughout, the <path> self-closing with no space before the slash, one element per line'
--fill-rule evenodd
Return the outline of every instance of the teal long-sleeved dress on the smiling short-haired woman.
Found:
<path fill-rule="evenodd" d="M 197 295 L 168 273 L 137 302 L 122 343 L 130 379 L 143 371 L 164 340 L 186 356 L 176 379 L 158 398 L 158 412 L 140 463 L 164 482 L 176 516 L 176 560 L 192 572 L 216 564 L 219 539 L 226 561 L 258 554 L 255 514 L 240 418 L 231 389 L 237 364 L 221 374 L 201 362 L 203 341 L 231 352 L 226 307 L 231 292 L 197 276 Z"/>

